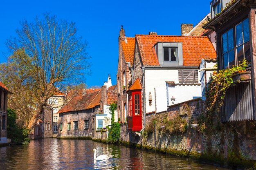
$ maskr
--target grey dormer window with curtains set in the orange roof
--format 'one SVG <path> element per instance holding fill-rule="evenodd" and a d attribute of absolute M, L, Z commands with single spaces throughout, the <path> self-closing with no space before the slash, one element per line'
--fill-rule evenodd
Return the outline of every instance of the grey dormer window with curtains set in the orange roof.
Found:
<path fill-rule="evenodd" d="M 157 42 L 155 52 L 159 65 L 183 66 L 183 53 L 181 42 Z"/>

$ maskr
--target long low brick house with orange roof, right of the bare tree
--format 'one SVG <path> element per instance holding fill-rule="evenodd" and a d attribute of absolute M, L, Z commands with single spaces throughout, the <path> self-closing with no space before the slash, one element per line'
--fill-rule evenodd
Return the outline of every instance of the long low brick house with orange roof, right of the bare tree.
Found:
<path fill-rule="evenodd" d="M 101 91 L 73 97 L 58 111 L 58 138 L 92 138 L 94 114 L 100 112 Z"/>

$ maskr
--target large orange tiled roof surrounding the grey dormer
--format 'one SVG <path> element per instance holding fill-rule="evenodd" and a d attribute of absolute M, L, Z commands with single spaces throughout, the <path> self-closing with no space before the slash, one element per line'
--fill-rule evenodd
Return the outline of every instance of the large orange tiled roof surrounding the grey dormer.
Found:
<path fill-rule="evenodd" d="M 216 51 L 207 37 L 175 35 L 135 35 L 144 66 L 159 66 L 154 45 L 157 42 L 182 42 L 183 65 L 198 66 L 204 59 L 216 58 Z"/>

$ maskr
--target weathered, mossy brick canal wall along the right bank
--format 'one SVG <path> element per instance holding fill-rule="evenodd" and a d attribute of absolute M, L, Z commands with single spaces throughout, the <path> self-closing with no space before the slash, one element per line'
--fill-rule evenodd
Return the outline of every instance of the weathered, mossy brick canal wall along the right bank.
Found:
<path fill-rule="evenodd" d="M 181 107 L 184 104 L 188 106 L 185 109 L 186 114 Z M 211 113 L 211 120 L 202 130 L 198 124 L 198 117 L 205 114 L 205 108 L 206 102 L 199 98 L 169 106 L 166 112 L 147 114 L 146 124 L 149 124 L 156 115 L 167 114 L 169 119 L 180 116 L 188 122 L 187 131 L 171 133 L 158 128 L 138 137 L 133 132 L 127 132 L 127 127 L 121 125 L 121 142 L 148 149 L 155 149 L 156 145 L 157 150 L 162 152 L 190 156 L 227 166 L 252 166 L 256 162 L 256 121 L 223 124 L 218 109 Z"/>

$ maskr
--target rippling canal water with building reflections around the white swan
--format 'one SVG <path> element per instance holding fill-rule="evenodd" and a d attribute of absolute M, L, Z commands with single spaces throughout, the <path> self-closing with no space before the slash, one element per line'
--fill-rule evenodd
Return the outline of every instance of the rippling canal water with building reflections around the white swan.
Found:
<path fill-rule="evenodd" d="M 97 155 L 108 155 L 107 161 L 94 161 Z M 32 140 L 24 146 L 0 148 L 2 170 L 227 170 L 187 161 L 170 155 L 142 151 L 137 148 L 102 144 L 91 140 Z"/>

